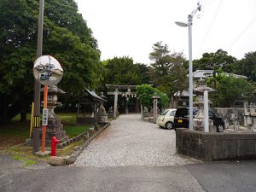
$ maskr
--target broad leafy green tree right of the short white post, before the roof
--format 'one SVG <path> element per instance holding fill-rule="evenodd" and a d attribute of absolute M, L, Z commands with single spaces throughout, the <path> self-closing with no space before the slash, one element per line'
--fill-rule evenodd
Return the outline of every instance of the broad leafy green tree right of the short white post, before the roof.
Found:
<path fill-rule="evenodd" d="M 213 79 L 208 79 L 211 83 Z M 212 102 L 216 107 L 230 107 L 235 100 L 253 100 L 253 90 L 255 86 L 247 82 L 246 79 L 226 76 L 224 73 L 218 74 L 216 92 L 212 95 Z"/>

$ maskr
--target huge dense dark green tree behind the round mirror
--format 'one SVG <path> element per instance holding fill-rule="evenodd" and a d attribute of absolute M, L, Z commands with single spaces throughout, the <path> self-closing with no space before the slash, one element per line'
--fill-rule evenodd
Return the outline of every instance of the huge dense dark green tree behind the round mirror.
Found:
<path fill-rule="evenodd" d="M 37 0 L 0 1 L 0 124 L 32 102 L 38 7 Z M 100 51 L 77 4 L 46 0 L 44 13 L 43 55 L 61 61 L 65 71 L 59 86 L 70 95 L 96 87 Z"/>

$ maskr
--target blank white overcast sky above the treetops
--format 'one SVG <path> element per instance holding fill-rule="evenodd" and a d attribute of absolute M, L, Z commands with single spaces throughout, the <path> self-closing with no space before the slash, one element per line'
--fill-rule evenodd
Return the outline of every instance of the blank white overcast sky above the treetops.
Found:
<path fill-rule="evenodd" d="M 75 0 L 102 51 L 102 60 L 130 56 L 134 62 L 150 63 L 148 55 L 158 41 L 188 59 L 187 22 L 198 0 Z M 256 51 L 255 0 L 201 0 L 200 18 L 192 26 L 193 59 L 217 49 L 241 59 Z"/>

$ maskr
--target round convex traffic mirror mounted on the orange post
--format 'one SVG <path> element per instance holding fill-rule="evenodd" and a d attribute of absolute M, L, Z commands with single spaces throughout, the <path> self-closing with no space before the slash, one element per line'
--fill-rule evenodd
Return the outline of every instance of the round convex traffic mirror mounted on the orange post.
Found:
<path fill-rule="evenodd" d="M 52 86 L 61 81 L 63 69 L 53 56 L 43 55 L 34 62 L 33 75 L 40 84 Z"/>

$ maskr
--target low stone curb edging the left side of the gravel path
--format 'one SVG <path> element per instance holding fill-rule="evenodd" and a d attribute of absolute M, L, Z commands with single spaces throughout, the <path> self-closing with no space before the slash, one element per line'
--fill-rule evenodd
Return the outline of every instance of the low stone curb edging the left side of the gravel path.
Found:
<path fill-rule="evenodd" d="M 88 147 L 88 145 L 90 144 L 90 142 L 97 137 L 98 135 L 100 135 L 102 133 L 102 131 L 104 131 L 105 129 L 108 128 L 108 126 L 110 125 L 110 123 L 108 122 L 108 124 L 104 125 L 102 127 L 102 129 L 96 131 L 91 137 L 89 137 L 81 147 L 75 148 L 73 154 L 71 155 L 67 155 L 66 157 L 61 157 L 61 156 L 53 156 L 49 159 L 49 165 L 50 166 L 69 166 L 71 164 L 74 163 L 75 160 L 77 160 L 77 157 L 79 156 L 79 154 L 82 153 L 82 151 Z"/>

